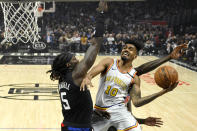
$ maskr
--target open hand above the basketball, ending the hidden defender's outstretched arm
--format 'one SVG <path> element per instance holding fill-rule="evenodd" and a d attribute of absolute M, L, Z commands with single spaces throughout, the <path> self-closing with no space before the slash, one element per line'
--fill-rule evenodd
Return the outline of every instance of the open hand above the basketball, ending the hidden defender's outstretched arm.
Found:
<path fill-rule="evenodd" d="M 179 57 L 181 57 L 185 53 L 185 50 L 187 48 L 188 48 L 187 44 L 181 44 L 181 45 L 177 46 L 176 48 L 174 48 L 174 50 L 170 54 L 170 57 L 172 59 L 178 59 Z"/>

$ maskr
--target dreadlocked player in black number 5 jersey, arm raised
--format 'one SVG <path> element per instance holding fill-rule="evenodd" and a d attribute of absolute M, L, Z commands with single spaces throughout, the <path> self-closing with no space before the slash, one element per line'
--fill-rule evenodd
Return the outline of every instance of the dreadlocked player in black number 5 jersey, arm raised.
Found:
<path fill-rule="evenodd" d="M 51 66 L 51 80 L 58 80 L 60 100 L 62 104 L 62 131 L 91 131 L 93 104 L 89 90 L 80 91 L 80 85 L 88 70 L 94 64 L 99 52 L 104 33 L 104 12 L 106 2 L 101 1 L 97 8 L 96 32 L 91 40 L 84 59 L 80 62 L 74 54 L 58 55 Z"/>

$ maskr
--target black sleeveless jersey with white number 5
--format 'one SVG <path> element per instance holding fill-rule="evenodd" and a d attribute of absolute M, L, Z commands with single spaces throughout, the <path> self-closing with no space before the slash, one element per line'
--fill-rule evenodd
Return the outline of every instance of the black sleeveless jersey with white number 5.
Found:
<path fill-rule="evenodd" d="M 59 81 L 59 93 L 62 104 L 63 123 L 66 126 L 90 128 L 93 103 L 90 91 L 80 91 L 72 79 L 72 72 Z"/>

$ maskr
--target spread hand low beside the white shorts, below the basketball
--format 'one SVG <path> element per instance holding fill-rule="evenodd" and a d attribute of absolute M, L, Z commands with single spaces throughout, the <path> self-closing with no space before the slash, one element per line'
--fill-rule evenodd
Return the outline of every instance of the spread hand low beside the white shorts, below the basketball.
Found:
<path fill-rule="evenodd" d="M 147 126 L 161 127 L 161 125 L 163 125 L 163 121 L 161 120 L 161 118 L 148 117 L 148 118 L 145 119 L 144 124 L 147 125 Z"/>

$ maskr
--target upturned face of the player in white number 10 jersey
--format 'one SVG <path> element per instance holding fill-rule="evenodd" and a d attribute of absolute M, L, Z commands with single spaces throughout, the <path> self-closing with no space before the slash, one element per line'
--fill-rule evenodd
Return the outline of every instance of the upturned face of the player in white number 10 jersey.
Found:
<path fill-rule="evenodd" d="M 126 44 L 121 51 L 121 59 L 124 61 L 132 61 L 137 57 L 137 49 L 133 44 Z"/>

